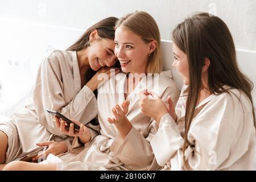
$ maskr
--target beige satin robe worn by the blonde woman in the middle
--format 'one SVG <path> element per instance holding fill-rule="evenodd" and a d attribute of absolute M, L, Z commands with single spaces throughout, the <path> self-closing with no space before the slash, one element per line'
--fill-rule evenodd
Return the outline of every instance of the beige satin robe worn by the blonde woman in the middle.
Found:
<path fill-rule="evenodd" d="M 154 159 L 150 146 L 151 137 L 158 130 L 158 126 L 154 119 L 142 114 L 139 107 L 138 93 L 147 88 L 148 91 L 158 93 L 162 100 L 167 100 L 167 96 L 170 95 L 174 98 L 176 104 L 180 90 L 177 89 L 171 76 L 170 71 L 162 72 L 159 76 L 148 79 L 151 82 L 146 81 L 146 77 L 144 77 L 126 98 L 126 100 L 130 101 L 126 117 L 133 127 L 125 140 L 122 139 L 118 134 L 118 130 L 107 119 L 108 117 L 113 117 L 112 107 L 117 104 L 121 105 L 125 101 L 124 86 L 127 78 L 123 73 L 118 73 L 115 77 L 110 78 L 105 85 L 98 89 L 97 102 L 100 135 L 96 131 L 95 133 L 91 132 L 92 139 L 84 147 L 81 147 L 77 142 L 77 138 L 75 138 L 69 148 L 70 154 L 60 157 L 64 163 L 58 163 L 57 170 L 158 169 L 159 166 Z"/>

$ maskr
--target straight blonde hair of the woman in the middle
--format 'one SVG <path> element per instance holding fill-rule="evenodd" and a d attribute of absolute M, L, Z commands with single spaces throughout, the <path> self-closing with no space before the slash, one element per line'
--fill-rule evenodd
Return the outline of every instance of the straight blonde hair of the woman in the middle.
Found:
<path fill-rule="evenodd" d="M 157 45 L 154 52 L 148 57 L 147 73 L 160 73 L 163 68 L 162 49 L 160 47 L 160 32 L 154 18 L 144 12 L 135 11 L 118 20 L 115 29 L 118 27 L 126 28 L 134 34 L 140 36 L 145 43 L 156 40 Z"/>

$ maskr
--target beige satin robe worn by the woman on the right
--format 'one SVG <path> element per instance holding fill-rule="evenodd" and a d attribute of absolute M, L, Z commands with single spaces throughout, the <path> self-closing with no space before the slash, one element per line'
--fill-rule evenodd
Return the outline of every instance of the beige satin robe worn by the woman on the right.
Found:
<path fill-rule="evenodd" d="M 187 97 L 180 97 L 175 108 L 177 123 L 169 114 L 164 115 L 151 139 L 160 166 L 171 170 L 253 169 L 255 128 L 251 103 L 237 89 L 230 89 L 229 93 L 211 95 L 196 107 L 185 150 L 188 168 L 182 152 Z M 181 90 L 181 96 L 184 95 Z"/>

